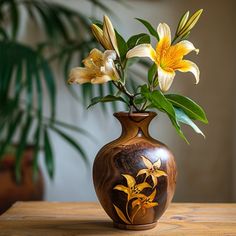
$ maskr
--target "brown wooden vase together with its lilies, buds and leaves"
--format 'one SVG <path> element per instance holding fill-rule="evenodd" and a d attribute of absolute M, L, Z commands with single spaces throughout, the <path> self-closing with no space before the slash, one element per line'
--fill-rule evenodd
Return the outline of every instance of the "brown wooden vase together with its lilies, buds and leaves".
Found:
<path fill-rule="evenodd" d="M 192 51 L 199 52 L 187 38 L 201 13 L 199 10 L 189 17 L 187 11 L 173 38 L 166 23 L 160 23 L 155 30 L 149 22 L 138 19 L 148 33 L 133 35 L 127 41 L 104 16 L 103 23 L 92 25 L 92 32 L 105 51 L 92 49 L 83 60 L 84 67 L 71 70 L 69 83 L 111 83 L 117 89 L 114 94 L 93 98 L 90 106 L 119 101 L 129 109 L 114 114 L 122 126 L 121 136 L 98 152 L 93 165 L 95 191 L 115 227 L 153 228 L 173 197 L 176 183 L 174 156 L 165 144 L 148 132 L 156 111 L 169 117 L 187 143 L 181 123 L 203 135 L 193 122 L 208 122 L 203 109 L 188 97 L 166 93 L 176 71 L 192 72 L 196 84 L 199 82 L 198 66 L 184 56 Z M 154 48 L 150 44 L 151 36 L 156 41 Z M 127 71 L 139 58 L 149 58 L 152 65 L 147 79 L 130 91 L 126 84 L 129 80 Z"/>

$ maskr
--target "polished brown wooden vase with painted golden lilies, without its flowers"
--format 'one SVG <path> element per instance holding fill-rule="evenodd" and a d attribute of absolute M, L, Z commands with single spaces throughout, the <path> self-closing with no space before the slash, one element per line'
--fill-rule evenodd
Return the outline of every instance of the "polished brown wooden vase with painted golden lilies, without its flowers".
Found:
<path fill-rule="evenodd" d="M 95 191 L 115 227 L 151 229 L 174 195 L 174 156 L 149 134 L 156 113 L 118 112 L 114 116 L 121 123 L 122 133 L 95 158 Z"/>

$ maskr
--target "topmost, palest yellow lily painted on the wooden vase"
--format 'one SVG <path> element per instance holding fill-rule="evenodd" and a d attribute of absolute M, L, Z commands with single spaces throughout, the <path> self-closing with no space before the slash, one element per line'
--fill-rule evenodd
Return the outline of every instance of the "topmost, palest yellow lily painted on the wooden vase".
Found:
<path fill-rule="evenodd" d="M 155 163 L 152 164 L 145 156 L 142 156 L 143 162 L 147 169 L 142 169 L 138 172 L 137 176 L 145 174 L 146 178 L 149 176 L 152 177 L 153 188 L 157 185 L 157 178 L 161 176 L 167 176 L 165 171 L 160 170 L 161 159 L 158 159 Z"/>

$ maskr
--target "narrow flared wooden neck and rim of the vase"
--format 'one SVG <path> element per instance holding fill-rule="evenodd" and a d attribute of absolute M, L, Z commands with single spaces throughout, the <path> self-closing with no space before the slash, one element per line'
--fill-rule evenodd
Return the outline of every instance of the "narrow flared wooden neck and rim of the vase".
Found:
<path fill-rule="evenodd" d="M 120 121 L 122 126 L 121 137 L 149 137 L 148 127 L 152 119 L 156 116 L 155 112 L 146 113 L 127 113 L 117 112 L 114 116 Z"/>

